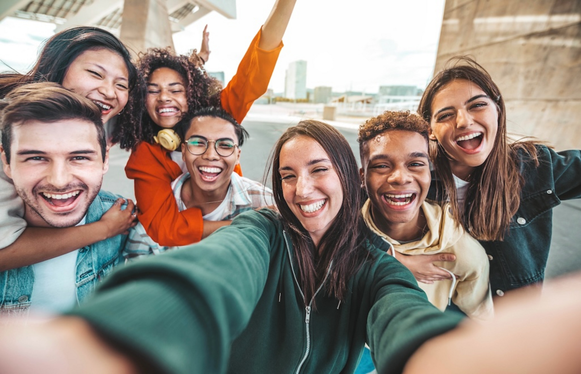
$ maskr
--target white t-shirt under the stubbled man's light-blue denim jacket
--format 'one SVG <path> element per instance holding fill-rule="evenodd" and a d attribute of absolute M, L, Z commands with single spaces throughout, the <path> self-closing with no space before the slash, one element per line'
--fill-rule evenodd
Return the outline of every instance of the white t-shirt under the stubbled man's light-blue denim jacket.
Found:
<path fill-rule="evenodd" d="M 77 226 L 85 224 L 86 216 Z M 75 269 L 78 250 L 35 263 L 30 311 L 58 314 L 77 305 Z"/>

